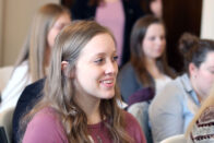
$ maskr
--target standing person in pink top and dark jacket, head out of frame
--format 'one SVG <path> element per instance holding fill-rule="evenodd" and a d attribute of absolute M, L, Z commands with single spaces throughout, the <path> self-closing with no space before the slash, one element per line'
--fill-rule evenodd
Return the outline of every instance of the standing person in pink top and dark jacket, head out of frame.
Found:
<path fill-rule="evenodd" d="M 71 12 L 73 20 L 94 19 L 108 27 L 117 43 L 119 67 L 129 61 L 131 28 L 144 15 L 138 0 L 74 0 Z"/>

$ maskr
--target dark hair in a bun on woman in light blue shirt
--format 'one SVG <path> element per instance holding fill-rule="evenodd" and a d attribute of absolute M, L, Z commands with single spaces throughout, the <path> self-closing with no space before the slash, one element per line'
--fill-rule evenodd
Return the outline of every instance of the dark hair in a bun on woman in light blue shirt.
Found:
<path fill-rule="evenodd" d="M 188 72 L 190 63 L 199 68 L 205 61 L 206 55 L 210 51 L 214 51 L 214 41 L 199 39 L 195 35 L 185 33 L 179 39 L 178 48 L 183 57 L 185 71 Z"/>

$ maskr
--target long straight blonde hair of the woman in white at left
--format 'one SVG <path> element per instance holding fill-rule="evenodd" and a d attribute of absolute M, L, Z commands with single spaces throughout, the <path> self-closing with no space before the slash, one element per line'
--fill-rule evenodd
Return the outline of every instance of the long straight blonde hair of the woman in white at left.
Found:
<path fill-rule="evenodd" d="M 64 13 L 70 15 L 70 11 L 67 8 L 48 3 L 41 7 L 34 16 L 28 37 L 15 63 L 16 68 L 23 61 L 28 61 L 28 73 L 32 82 L 45 76 L 45 56 L 48 47 L 47 35 L 57 19 Z"/>

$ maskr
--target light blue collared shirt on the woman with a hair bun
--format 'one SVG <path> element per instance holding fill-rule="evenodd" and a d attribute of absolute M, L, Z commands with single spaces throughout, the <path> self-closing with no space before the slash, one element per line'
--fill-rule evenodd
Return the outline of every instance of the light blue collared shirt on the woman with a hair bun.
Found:
<path fill-rule="evenodd" d="M 148 108 L 153 141 L 158 143 L 185 133 L 199 107 L 199 99 L 187 74 L 168 83 Z"/>

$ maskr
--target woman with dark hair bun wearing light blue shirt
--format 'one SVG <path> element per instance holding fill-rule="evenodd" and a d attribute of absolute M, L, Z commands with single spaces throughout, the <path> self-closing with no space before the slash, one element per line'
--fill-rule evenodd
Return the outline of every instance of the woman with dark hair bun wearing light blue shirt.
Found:
<path fill-rule="evenodd" d="M 179 49 L 185 73 L 158 93 L 148 109 L 155 143 L 183 134 L 214 83 L 214 41 L 183 34 Z"/>

